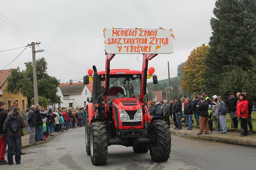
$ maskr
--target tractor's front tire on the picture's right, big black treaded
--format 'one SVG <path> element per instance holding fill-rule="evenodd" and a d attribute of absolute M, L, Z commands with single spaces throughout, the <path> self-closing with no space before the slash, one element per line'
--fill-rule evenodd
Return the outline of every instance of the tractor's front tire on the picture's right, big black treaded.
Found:
<path fill-rule="evenodd" d="M 165 120 L 154 120 L 150 127 L 153 143 L 149 145 L 151 159 L 155 162 L 167 161 L 171 152 L 171 132 Z"/>

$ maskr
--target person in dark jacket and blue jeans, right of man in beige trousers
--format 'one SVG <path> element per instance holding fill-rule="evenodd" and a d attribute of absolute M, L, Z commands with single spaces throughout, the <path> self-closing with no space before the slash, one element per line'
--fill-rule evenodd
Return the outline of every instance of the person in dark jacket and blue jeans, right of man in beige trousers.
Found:
<path fill-rule="evenodd" d="M 45 140 L 43 138 L 44 136 L 43 119 L 40 114 L 40 110 L 38 110 L 38 108 L 39 108 L 39 104 L 36 104 L 36 110 L 34 111 L 36 115 L 36 137 L 35 137 L 36 142 L 39 142 L 39 140 Z"/>

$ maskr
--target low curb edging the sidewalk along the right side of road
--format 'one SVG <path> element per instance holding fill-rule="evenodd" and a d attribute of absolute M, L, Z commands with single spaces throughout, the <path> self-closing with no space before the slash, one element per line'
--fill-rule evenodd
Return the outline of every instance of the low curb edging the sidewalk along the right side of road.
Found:
<path fill-rule="evenodd" d="M 256 147 L 256 143 L 250 140 L 239 140 L 236 138 L 216 138 L 213 136 L 207 136 L 207 135 L 192 135 L 184 132 L 176 132 L 176 131 L 171 131 L 172 134 L 177 135 L 177 136 L 184 136 L 184 137 L 192 137 L 192 138 L 198 138 L 198 139 L 203 139 L 203 140 L 209 140 L 209 141 L 214 141 L 214 142 L 222 142 L 222 143 L 227 143 L 227 144 L 232 144 L 232 145 L 242 145 L 242 146 L 250 146 L 250 147 Z"/>

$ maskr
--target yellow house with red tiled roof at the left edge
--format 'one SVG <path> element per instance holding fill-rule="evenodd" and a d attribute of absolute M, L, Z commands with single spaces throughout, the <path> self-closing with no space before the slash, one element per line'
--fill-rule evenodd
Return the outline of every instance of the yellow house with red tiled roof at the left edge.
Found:
<path fill-rule="evenodd" d="M 0 71 L 0 100 L 6 102 L 6 110 L 10 109 L 15 101 L 20 107 L 20 110 L 27 109 L 28 101 L 26 97 L 22 96 L 20 93 L 18 95 L 11 95 L 5 92 L 5 89 L 7 87 L 6 79 L 9 77 L 10 74 L 11 70 Z"/>

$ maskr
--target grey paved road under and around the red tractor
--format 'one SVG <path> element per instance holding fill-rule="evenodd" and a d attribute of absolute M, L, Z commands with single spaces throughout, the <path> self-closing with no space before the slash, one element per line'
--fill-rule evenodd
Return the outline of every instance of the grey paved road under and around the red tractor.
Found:
<path fill-rule="evenodd" d="M 151 161 L 149 152 L 136 154 L 132 147 L 108 147 L 108 163 L 93 166 L 86 155 L 84 128 L 64 132 L 49 142 L 24 149 L 21 164 L 1 165 L 2 169 L 104 169 L 104 170 L 162 170 L 162 169 L 255 169 L 256 148 L 196 141 L 172 135 L 171 158 L 167 162 Z M 6 155 L 7 157 L 7 155 Z"/>

